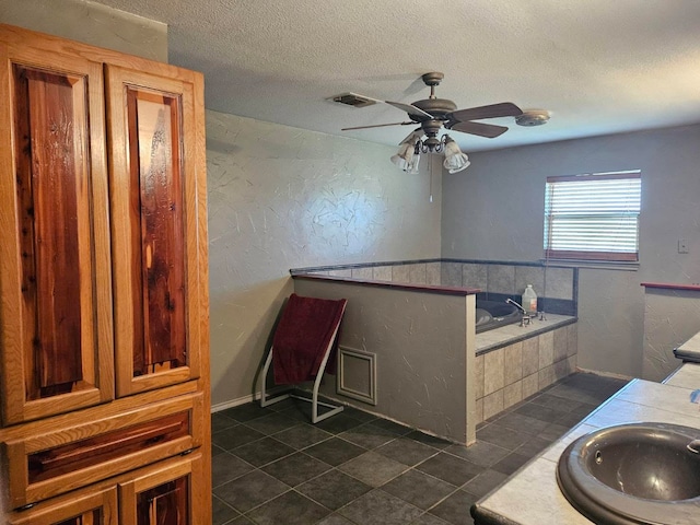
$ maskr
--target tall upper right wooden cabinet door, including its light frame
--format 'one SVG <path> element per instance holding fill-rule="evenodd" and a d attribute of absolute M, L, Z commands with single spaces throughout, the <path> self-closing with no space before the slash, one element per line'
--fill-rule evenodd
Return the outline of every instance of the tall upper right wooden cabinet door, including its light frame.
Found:
<path fill-rule="evenodd" d="M 106 67 L 118 397 L 201 373 L 202 81 L 171 69 Z"/>

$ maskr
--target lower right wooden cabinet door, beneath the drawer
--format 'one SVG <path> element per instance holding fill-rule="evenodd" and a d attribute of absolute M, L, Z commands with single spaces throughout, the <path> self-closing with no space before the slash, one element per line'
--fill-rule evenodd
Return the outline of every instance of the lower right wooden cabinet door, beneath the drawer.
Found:
<path fill-rule="evenodd" d="M 121 525 L 198 525 L 211 523 L 211 493 L 202 491 L 200 453 L 144 468 L 119 485 Z"/>

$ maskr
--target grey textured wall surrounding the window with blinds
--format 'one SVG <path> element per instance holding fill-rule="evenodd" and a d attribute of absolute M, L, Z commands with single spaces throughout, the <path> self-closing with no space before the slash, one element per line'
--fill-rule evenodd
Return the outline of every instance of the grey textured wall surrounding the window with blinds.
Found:
<path fill-rule="evenodd" d="M 687 126 L 474 153 L 443 179 L 442 257 L 537 260 L 547 176 L 640 168 L 639 271 L 579 275 L 579 365 L 639 376 L 640 283 L 700 282 L 699 143 L 700 126 Z M 689 254 L 677 253 L 678 238 Z"/>

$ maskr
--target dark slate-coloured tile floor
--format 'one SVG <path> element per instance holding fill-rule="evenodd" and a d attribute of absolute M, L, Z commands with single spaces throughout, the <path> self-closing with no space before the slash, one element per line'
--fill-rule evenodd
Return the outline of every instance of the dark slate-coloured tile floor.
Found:
<path fill-rule="evenodd" d="M 347 408 L 315 425 L 308 404 L 212 415 L 213 524 L 471 524 L 469 506 L 625 381 L 573 374 L 454 445 Z"/>

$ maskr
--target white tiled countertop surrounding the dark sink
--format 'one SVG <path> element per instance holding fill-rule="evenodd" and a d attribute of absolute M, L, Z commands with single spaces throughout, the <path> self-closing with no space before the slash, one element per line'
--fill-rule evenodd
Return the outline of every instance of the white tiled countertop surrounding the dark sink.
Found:
<path fill-rule="evenodd" d="M 700 345 L 700 337 L 695 336 Z M 692 339 L 691 339 L 692 340 Z M 687 363 L 664 383 L 633 380 L 568 434 L 526 464 L 477 503 L 522 525 L 591 524 L 565 500 L 557 485 L 557 462 L 576 438 L 611 424 L 654 421 L 700 429 L 700 405 L 690 394 L 700 388 L 700 364 Z"/>

